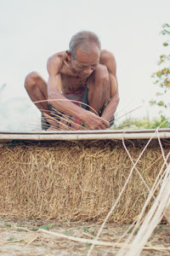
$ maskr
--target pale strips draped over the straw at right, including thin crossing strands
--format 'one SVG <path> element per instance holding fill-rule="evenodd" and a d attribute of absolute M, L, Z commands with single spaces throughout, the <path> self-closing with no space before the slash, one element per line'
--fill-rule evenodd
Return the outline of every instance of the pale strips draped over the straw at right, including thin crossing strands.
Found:
<path fill-rule="evenodd" d="M 127 147 L 125 146 L 124 140 L 123 140 L 123 146 L 127 151 L 127 154 L 130 158 L 130 160 L 133 163 L 133 168 L 131 169 L 131 172 L 129 173 L 129 176 L 127 177 L 127 181 L 124 184 L 121 193 L 119 194 L 119 196 L 117 197 L 116 202 L 113 204 L 113 206 L 111 207 L 110 212 L 107 214 L 103 224 L 101 225 L 97 236 L 95 237 L 94 241 L 97 241 L 99 239 L 99 236 L 105 226 L 105 223 L 107 221 L 107 219 L 110 217 L 111 213 L 113 213 L 113 211 L 115 210 L 116 207 L 116 203 L 120 200 L 120 198 L 122 197 L 122 193 L 124 192 L 124 189 L 127 186 L 127 183 L 129 181 L 129 178 L 132 176 L 133 174 L 133 169 L 136 168 L 136 171 L 139 173 L 139 177 L 143 180 L 145 187 L 150 191 L 150 194 L 147 198 L 147 200 L 144 202 L 144 207 L 142 208 L 142 211 L 140 212 L 139 216 L 138 216 L 138 221 L 137 224 L 134 226 L 133 228 L 133 232 L 132 234 L 127 238 L 126 243 L 122 246 L 122 249 L 116 253 L 117 256 L 136 256 L 139 255 L 142 251 L 142 249 L 144 248 L 144 244 L 146 243 L 146 241 L 148 241 L 148 239 L 151 236 L 151 233 L 153 232 L 153 230 L 156 228 L 156 225 L 159 224 L 159 222 L 161 221 L 161 218 L 163 217 L 163 214 L 165 214 L 165 216 L 167 216 L 166 212 L 167 209 L 169 208 L 169 203 L 170 203 L 170 189 L 169 189 L 169 185 L 170 185 L 170 175 L 169 175 L 169 171 L 170 171 L 170 165 L 167 165 L 167 159 L 169 157 L 170 152 L 167 154 L 167 158 L 165 157 L 162 145 L 161 145 L 161 140 L 159 137 L 159 128 L 156 129 L 156 134 L 158 137 L 158 142 L 159 145 L 161 147 L 161 154 L 164 160 L 164 164 L 161 166 L 161 170 L 158 173 L 157 177 L 156 177 L 156 181 L 152 186 L 152 189 L 150 190 L 149 187 L 147 186 L 147 184 L 144 181 L 144 178 L 142 177 L 142 175 L 139 173 L 139 170 L 136 168 L 137 163 L 139 162 L 139 159 L 141 158 L 141 155 L 144 153 L 145 149 L 147 148 L 147 146 L 149 145 L 152 137 L 150 137 L 149 142 L 146 144 L 146 146 L 144 147 L 142 153 L 139 155 L 138 160 L 133 163 L 132 157 L 129 154 Z M 167 166 L 167 169 L 165 172 L 162 173 L 163 171 L 163 167 Z M 160 177 L 161 176 L 161 177 Z M 162 183 L 162 184 L 161 184 Z M 158 196 L 155 198 L 155 192 L 156 189 L 158 187 L 158 185 L 161 184 L 161 189 L 160 192 L 158 194 Z M 154 198 L 155 201 L 153 203 L 153 205 L 150 207 L 150 211 L 146 214 L 146 216 L 144 217 L 144 213 L 146 211 L 146 207 L 148 207 L 151 199 Z M 169 210 L 169 209 L 168 209 Z M 144 218 L 144 221 L 143 219 Z M 169 221 L 169 219 L 168 219 Z M 142 223 L 143 222 L 143 223 Z M 141 224 L 142 223 L 142 224 Z M 133 222 L 134 224 L 134 222 Z M 136 236 L 133 239 L 133 235 L 134 232 L 138 230 L 139 225 L 141 224 L 140 230 L 139 230 L 139 234 L 138 236 Z M 125 234 L 127 234 L 127 231 L 125 232 Z M 123 237 L 123 236 L 122 236 Z M 120 241 L 121 239 L 119 239 Z M 131 242 L 133 240 L 133 242 Z M 130 244 L 131 242 L 131 244 Z M 88 251 L 88 256 L 92 253 L 92 250 L 94 249 L 94 244 L 92 244 L 92 246 L 90 247 L 89 251 Z"/>

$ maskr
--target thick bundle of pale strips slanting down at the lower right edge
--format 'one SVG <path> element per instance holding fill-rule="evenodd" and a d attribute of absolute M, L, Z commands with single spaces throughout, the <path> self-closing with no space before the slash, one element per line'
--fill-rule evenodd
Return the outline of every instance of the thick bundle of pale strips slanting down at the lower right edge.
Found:
<path fill-rule="evenodd" d="M 165 158 L 165 154 L 163 152 L 163 148 L 161 145 L 161 140 L 159 137 L 158 129 L 157 129 L 157 137 L 158 137 L 158 142 L 160 144 L 161 154 L 162 154 L 162 157 L 164 160 L 164 164 L 161 166 L 161 170 L 156 177 L 156 181 L 153 184 L 153 187 L 150 190 L 150 194 L 144 203 L 144 207 L 139 214 L 139 218 L 138 218 L 137 224 L 133 228 L 133 232 L 127 238 L 126 245 L 124 247 L 122 247 L 122 249 L 119 253 L 117 253 L 117 256 L 123 256 L 125 252 L 126 252 L 127 256 L 135 256 L 135 255 L 139 255 L 141 253 L 142 247 L 144 247 L 144 244 L 146 243 L 146 241 L 148 241 L 152 231 L 156 228 L 156 225 L 159 224 L 159 222 L 161 221 L 163 213 L 165 212 L 166 207 L 170 201 L 169 200 L 170 190 L 168 189 L 170 186 L 170 178 L 169 178 L 170 165 L 167 166 L 167 159 L 169 157 L 170 151 L 167 154 L 167 158 Z M 167 169 L 165 170 L 165 172 L 162 173 L 162 170 L 165 165 L 167 166 Z M 160 184 L 161 184 L 161 189 L 160 189 L 159 195 L 156 197 L 152 207 L 150 208 L 150 211 L 145 215 L 143 224 L 141 224 L 142 218 L 144 216 L 144 211 L 145 211 L 146 207 L 148 206 L 151 197 L 154 195 L 156 188 Z M 141 224 L 141 226 L 140 226 L 140 224 Z M 139 229 L 139 226 L 140 226 L 140 229 Z M 139 229 L 138 235 L 133 239 L 133 234 L 137 229 Z M 131 243 L 131 245 L 129 247 L 129 243 L 132 240 L 133 240 L 133 242 Z M 129 247 L 128 251 L 127 251 L 127 247 Z"/>

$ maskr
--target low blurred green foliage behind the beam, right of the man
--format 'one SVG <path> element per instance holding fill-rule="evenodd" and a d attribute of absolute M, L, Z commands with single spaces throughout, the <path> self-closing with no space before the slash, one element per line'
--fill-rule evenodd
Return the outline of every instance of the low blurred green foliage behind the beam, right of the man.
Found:
<path fill-rule="evenodd" d="M 161 128 L 168 128 L 169 123 L 165 116 L 161 115 L 160 118 L 156 118 L 153 120 L 143 118 L 143 119 L 134 119 L 127 118 L 122 121 L 121 125 L 114 125 L 113 129 L 156 129 L 161 125 Z"/>

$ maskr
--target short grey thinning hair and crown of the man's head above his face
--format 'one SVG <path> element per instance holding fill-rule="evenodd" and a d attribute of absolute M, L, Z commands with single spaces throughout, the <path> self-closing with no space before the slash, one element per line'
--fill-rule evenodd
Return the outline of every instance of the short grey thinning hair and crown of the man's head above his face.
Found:
<path fill-rule="evenodd" d="M 99 38 L 94 32 L 78 32 L 75 34 L 70 41 L 69 49 L 71 57 L 76 59 L 77 49 L 80 49 L 84 54 L 91 55 L 94 48 L 101 49 Z"/>

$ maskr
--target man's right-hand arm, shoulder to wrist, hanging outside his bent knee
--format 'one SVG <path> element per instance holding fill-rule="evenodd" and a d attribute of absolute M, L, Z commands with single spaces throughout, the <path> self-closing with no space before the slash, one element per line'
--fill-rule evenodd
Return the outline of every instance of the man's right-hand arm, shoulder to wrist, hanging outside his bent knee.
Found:
<path fill-rule="evenodd" d="M 102 117 L 106 120 L 110 120 L 114 113 L 116 112 L 116 108 L 119 103 L 119 93 L 118 93 L 118 82 L 116 78 L 116 60 L 114 55 L 107 50 L 102 51 L 101 55 L 102 64 L 104 64 L 110 75 L 110 83 L 111 83 L 111 98 L 110 102 L 105 106 Z"/>

